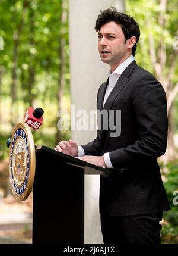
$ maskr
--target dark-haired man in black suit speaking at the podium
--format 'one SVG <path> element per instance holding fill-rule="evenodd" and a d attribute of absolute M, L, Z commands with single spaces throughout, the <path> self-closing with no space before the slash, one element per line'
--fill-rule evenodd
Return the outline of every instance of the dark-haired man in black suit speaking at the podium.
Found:
<path fill-rule="evenodd" d="M 135 62 L 140 32 L 134 18 L 109 8 L 98 15 L 95 29 L 101 60 L 110 65 L 109 78 L 98 89 L 97 109 L 112 110 L 108 122 L 116 125 L 121 110 L 121 133 L 113 136 L 101 120 L 94 141 L 82 146 L 61 141 L 55 149 L 112 170 L 100 176 L 104 243 L 160 244 L 159 222 L 170 209 L 157 163 L 167 146 L 166 95 Z"/>

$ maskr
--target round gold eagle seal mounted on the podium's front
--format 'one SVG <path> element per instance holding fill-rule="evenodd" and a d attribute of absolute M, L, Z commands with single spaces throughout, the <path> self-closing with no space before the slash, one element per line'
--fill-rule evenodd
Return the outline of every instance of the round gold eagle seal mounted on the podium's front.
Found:
<path fill-rule="evenodd" d="M 33 135 L 26 123 L 18 123 L 11 137 L 9 178 L 12 193 L 20 201 L 30 195 L 35 174 Z"/>

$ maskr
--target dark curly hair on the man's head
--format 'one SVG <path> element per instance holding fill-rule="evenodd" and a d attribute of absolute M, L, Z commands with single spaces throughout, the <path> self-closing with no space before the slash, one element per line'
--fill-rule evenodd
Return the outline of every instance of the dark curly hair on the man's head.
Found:
<path fill-rule="evenodd" d="M 117 24 L 121 26 L 122 32 L 125 36 L 125 40 L 131 38 L 131 36 L 135 36 L 136 43 L 138 43 L 140 31 L 139 31 L 138 23 L 136 23 L 134 18 L 130 17 L 125 13 L 116 11 L 115 7 L 108 8 L 100 12 L 101 14 L 98 15 L 98 18 L 96 20 L 96 25 L 94 27 L 96 32 L 99 31 L 104 24 L 110 21 L 115 21 Z M 132 55 L 134 56 L 136 52 L 136 43 L 132 47 Z"/>

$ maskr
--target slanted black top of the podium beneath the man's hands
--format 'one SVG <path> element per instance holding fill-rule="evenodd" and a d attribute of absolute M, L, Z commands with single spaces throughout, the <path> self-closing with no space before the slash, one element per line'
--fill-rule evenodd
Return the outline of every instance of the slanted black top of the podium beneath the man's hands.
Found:
<path fill-rule="evenodd" d="M 47 148 L 46 146 L 39 145 L 36 146 L 36 152 L 37 151 L 46 151 L 49 152 L 49 154 L 58 155 L 59 157 L 63 158 L 63 161 L 65 161 L 67 164 L 71 164 L 72 166 L 78 166 L 80 168 L 84 168 L 85 175 L 103 175 L 103 174 L 110 174 L 111 171 L 105 167 L 99 167 L 94 164 L 90 164 L 88 162 L 82 161 L 78 158 L 71 157 L 71 155 L 63 154 L 62 152 L 58 152 L 54 149 Z"/>

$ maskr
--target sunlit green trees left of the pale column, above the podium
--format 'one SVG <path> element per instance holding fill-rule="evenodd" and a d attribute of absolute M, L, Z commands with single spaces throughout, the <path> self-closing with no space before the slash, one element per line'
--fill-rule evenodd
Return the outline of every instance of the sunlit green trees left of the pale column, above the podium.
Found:
<path fill-rule="evenodd" d="M 62 107 L 69 108 L 68 17 L 61 23 L 63 2 L 68 13 L 67 0 L 0 1 L 0 35 L 4 38 L 0 51 L 1 152 L 5 152 L 4 138 L 15 123 L 23 121 L 29 106 L 45 111 L 42 128 L 33 131 L 36 145 L 55 146 L 61 76 L 65 79 Z M 63 73 L 61 38 L 65 39 Z M 68 138 L 68 132 L 63 136 Z"/>

